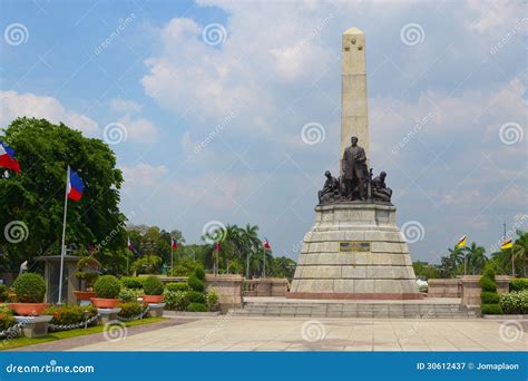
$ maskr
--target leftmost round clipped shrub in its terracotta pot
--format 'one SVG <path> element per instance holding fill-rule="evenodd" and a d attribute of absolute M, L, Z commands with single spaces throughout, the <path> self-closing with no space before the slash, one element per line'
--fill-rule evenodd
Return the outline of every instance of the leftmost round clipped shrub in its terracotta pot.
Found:
<path fill-rule="evenodd" d="M 43 277 L 35 273 L 23 273 L 13 282 L 17 303 L 9 303 L 9 307 L 18 315 L 39 315 L 49 305 L 43 303 L 46 295 L 46 282 Z"/>

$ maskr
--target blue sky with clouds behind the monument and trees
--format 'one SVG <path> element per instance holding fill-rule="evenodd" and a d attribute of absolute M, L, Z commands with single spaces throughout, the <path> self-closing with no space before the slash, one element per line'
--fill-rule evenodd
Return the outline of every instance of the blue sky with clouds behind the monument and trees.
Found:
<path fill-rule="evenodd" d="M 527 228 L 521 2 L 37 0 L 0 10 L 0 123 L 31 115 L 117 138 L 133 223 L 187 242 L 211 221 L 257 224 L 275 255 L 296 258 L 322 174 L 338 169 L 341 33 L 355 26 L 366 35 L 371 164 L 389 173 L 400 226 L 420 231 L 412 257 L 438 262 L 462 234 L 489 252 L 505 218 Z M 303 141 L 306 124 L 324 138 Z"/>

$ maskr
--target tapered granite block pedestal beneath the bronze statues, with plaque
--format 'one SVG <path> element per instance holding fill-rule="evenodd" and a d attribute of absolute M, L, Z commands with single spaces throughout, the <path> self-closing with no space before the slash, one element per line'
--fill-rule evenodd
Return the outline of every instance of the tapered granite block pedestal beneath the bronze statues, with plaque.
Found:
<path fill-rule="evenodd" d="M 364 202 L 316 206 L 286 297 L 422 299 L 395 212 Z"/>

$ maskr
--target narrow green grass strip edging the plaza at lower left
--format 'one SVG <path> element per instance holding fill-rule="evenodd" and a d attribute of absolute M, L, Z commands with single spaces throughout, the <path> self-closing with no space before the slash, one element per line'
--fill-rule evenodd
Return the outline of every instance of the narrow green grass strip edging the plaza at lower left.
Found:
<path fill-rule="evenodd" d="M 126 326 L 144 325 L 144 324 L 162 322 L 165 320 L 167 320 L 167 318 L 147 318 L 147 319 L 140 319 L 140 320 L 133 320 L 131 322 L 126 322 L 125 325 Z M 46 343 L 49 341 L 56 341 L 56 340 L 61 340 L 61 339 L 70 339 L 70 338 L 84 336 L 87 334 L 100 333 L 102 332 L 102 329 L 104 329 L 102 325 L 95 325 L 95 326 L 88 326 L 86 330 L 77 329 L 77 330 L 70 330 L 70 331 L 52 332 L 52 333 L 47 334 L 46 336 L 37 338 L 37 339 L 28 339 L 28 338 L 20 336 L 20 338 L 11 339 L 11 340 L 2 340 L 0 342 L 0 351 L 26 346 L 26 345 Z"/>

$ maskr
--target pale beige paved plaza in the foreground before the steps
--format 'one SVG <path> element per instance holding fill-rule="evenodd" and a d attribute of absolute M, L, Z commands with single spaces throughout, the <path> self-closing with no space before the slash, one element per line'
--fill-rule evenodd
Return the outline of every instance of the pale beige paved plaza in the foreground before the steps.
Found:
<path fill-rule="evenodd" d="M 179 320 L 180 318 L 173 318 Z M 173 320 L 172 319 L 172 320 Z M 176 323 L 176 322 L 175 322 Z M 520 330 L 519 330 L 520 328 Z M 221 315 L 71 351 L 527 351 L 528 321 Z M 38 345 L 33 346 L 33 350 Z M 31 350 L 31 348 L 28 348 Z"/>

